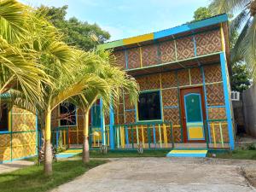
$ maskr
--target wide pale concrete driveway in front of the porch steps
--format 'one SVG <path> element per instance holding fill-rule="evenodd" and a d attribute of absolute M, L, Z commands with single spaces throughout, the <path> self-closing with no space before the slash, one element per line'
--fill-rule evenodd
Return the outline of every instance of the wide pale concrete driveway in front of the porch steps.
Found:
<path fill-rule="evenodd" d="M 133 158 L 97 166 L 53 192 L 255 191 L 243 176 L 253 160 Z"/>

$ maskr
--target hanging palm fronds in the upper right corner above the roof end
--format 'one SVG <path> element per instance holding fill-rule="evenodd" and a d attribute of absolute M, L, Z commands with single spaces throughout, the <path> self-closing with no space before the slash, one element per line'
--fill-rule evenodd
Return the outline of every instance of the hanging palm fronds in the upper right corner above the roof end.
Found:
<path fill-rule="evenodd" d="M 229 13 L 236 15 L 230 22 L 230 36 L 240 32 L 231 49 L 231 61 L 244 60 L 256 79 L 256 1 L 255 0 L 212 0 L 209 7 L 213 15 Z"/>

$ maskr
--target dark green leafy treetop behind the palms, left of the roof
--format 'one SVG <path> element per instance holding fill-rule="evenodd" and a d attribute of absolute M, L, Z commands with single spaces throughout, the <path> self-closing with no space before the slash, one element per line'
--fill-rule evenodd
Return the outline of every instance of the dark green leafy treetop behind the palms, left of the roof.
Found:
<path fill-rule="evenodd" d="M 79 47 L 80 49 L 93 49 L 97 44 L 102 44 L 110 38 L 108 32 L 103 31 L 97 24 L 89 24 L 75 17 L 66 20 L 67 5 L 61 8 L 41 6 L 38 12 L 48 16 L 50 22 L 65 34 L 67 44 Z M 90 38 L 91 34 L 96 35 L 98 42 Z"/>

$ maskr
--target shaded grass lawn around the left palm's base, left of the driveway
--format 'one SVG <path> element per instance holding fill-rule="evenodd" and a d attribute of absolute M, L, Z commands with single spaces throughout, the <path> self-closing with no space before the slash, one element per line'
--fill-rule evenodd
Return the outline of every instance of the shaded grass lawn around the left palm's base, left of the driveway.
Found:
<path fill-rule="evenodd" d="M 44 177 L 43 166 L 27 166 L 15 172 L 0 174 L 0 191 L 48 191 L 106 162 L 106 160 L 90 160 L 90 163 L 84 166 L 82 160 L 59 161 L 53 164 L 54 173 L 51 177 Z"/>

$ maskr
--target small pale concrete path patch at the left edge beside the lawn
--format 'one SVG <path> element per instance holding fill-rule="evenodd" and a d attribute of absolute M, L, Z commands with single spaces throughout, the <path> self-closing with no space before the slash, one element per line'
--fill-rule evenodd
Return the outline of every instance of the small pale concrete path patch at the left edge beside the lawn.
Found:
<path fill-rule="evenodd" d="M 34 165 L 34 162 L 27 161 L 27 160 L 15 160 L 13 162 L 0 164 L 0 174 L 6 173 L 6 172 L 13 172 L 25 166 L 32 166 L 32 165 Z"/>

